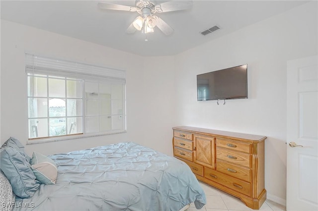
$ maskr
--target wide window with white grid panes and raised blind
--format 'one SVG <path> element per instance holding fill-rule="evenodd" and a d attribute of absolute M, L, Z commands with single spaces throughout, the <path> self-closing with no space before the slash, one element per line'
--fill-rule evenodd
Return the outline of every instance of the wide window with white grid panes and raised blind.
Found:
<path fill-rule="evenodd" d="M 29 140 L 126 130 L 124 71 L 26 54 L 26 72 Z"/>

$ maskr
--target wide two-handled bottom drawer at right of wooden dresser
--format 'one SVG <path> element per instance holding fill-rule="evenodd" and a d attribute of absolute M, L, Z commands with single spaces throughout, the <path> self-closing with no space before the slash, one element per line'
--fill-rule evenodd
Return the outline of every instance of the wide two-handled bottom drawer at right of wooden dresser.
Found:
<path fill-rule="evenodd" d="M 246 196 L 251 196 L 251 184 L 248 182 L 241 181 L 207 167 L 204 167 L 204 177 Z"/>

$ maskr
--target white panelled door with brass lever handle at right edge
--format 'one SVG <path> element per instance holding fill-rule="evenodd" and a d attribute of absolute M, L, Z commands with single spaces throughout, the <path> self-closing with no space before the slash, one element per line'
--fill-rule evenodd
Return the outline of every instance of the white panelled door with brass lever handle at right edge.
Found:
<path fill-rule="evenodd" d="M 318 211 L 317 60 L 287 62 L 287 211 Z"/>

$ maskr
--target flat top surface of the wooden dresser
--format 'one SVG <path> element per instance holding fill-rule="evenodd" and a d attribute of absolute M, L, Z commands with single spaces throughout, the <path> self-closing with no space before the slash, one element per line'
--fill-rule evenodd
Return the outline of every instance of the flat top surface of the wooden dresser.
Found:
<path fill-rule="evenodd" d="M 239 138 L 239 139 L 250 140 L 250 141 L 263 141 L 266 139 L 266 136 L 236 133 L 236 132 L 229 132 L 229 131 L 223 131 L 223 130 L 213 130 L 213 129 L 199 128 L 199 127 L 190 127 L 190 126 L 178 126 L 178 127 L 173 127 L 172 129 L 186 131 L 186 132 L 200 133 L 200 134 L 215 135 L 215 136 L 219 136 L 223 138 L 236 138 L 236 139 Z"/>

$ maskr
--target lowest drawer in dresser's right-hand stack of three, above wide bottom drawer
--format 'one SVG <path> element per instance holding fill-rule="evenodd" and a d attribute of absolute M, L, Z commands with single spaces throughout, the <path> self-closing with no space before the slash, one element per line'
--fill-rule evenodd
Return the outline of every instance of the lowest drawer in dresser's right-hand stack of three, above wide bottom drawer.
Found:
<path fill-rule="evenodd" d="M 217 171 L 250 182 L 251 169 L 217 160 Z"/>

